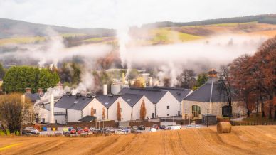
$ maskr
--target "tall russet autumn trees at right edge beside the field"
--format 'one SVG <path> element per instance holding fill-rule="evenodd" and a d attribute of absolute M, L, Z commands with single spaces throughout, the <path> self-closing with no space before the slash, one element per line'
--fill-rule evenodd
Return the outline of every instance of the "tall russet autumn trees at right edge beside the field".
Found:
<path fill-rule="evenodd" d="M 269 107 L 268 118 L 272 119 L 274 109 L 276 119 L 276 109 L 273 107 L 276 92 L 276 36 L 265 41 L 255 55 L 243 55 L 233 60 L 230 72 L 233 74 L 233 84 L 240 90 L 248 113 L 254 104 L 249 97 L 256 95 L 255 102 L 261 102 L 262 117 L 265 117 L 264 107 Z"/>

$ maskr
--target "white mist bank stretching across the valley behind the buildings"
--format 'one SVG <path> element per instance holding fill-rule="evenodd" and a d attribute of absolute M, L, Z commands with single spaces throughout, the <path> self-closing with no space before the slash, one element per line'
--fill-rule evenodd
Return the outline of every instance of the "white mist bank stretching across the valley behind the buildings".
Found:
<path fill-rule="evenodd" d="M 191 69 L 196 73 L 206 72 L 211 68 L 218 69 L 220 65 L 230 63 L 243 54 L 253 54 L 258 46 L 265 41 L 260 36 L 240 36 L 225 34 L 212 36 L 198 41 L 174 43 L 168 45 L 139 46 L 129 41 L 129 29 L 117 31 L 119 55 L 122 68 L 154 69 L 160 81 L 169 77 L 171 86 L 177 84 L 176 77 L 184 70 Z M 53 32 L 51 33 L 53 35 Z M 0 59 L 10 59 L 25 62 L 35 61 L 37 66 L 70 61 L 78 57 L 82 63 L 81 82 L 77 87 L 67 88 L 73 94 L 82 91 L 94 92 L 95 86 L 92 70 L 97 70 L 97 60 L 105 58 L 113 47 L 105 44 L 89 44 L 66 48 L 63 38 L 58 35 L 49 36 L 47 41 L 38 44 L 23 44 L 15 51 L 0 53 Z M 110 68 L 113 68 L 114 65 Z M 129 73 L 127 72 L 127 75 Z M 162 82 L 160 83 L 162 85 Z M 53 90 L 51 90 L 53 91 Z"/>

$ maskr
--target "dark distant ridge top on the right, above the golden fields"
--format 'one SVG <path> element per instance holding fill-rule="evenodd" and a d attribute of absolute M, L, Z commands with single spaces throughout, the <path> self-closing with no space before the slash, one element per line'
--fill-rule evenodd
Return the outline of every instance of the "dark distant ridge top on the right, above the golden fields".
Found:
<path fill-rule="evenodd" d="M 204 21 L 192 21 L 186 23 L 174 23 L 171 21 L 162 21 L 156 23 L 147 23 L 142 28 L 165 28 L 165 27 L 181 27 L 181 26 L 204 26 L 219 23 L 248 23 L 257 21 L 258 23 L 276 24 L 276 14 L 264 14 L 258 16 L 243 16 L 234 18 L 218 18 L 208 19 Z"/>

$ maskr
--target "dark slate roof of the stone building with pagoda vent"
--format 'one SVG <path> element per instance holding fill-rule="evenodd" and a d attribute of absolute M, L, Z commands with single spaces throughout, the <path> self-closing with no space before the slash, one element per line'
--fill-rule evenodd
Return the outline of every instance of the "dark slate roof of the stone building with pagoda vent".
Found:
<path fill-rule="evenodd" d="M 211 87 L 212 79 L 209 78 L 204 85 L 198 87 L 197 90 L 185 97 L 184 100 L 210 102 Z M 217 80 L 213 80 L 213 92 L 211 102 L 227 102 L 227 97 L 224 95 L 224 93 L 220 91 L 220 84 L 217 82 Z"/>

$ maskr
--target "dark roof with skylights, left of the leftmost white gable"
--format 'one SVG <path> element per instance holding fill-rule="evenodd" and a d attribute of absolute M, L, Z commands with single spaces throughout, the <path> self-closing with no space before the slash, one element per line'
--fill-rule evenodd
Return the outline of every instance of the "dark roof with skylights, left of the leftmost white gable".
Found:
<path fill-rule="evenodd" d="M 75 95 L 63 95 L 63 97 L 55 103 L 55 107 L 60 107 L 64 109 L 84 109 L 93 98 L 88 97 L 76 97 Z"/>

